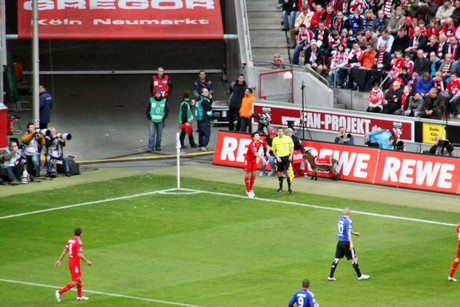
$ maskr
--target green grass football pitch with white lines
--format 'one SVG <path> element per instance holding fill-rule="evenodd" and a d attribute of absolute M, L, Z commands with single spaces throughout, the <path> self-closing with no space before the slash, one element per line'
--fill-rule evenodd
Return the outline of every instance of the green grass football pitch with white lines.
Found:
<path fill-rule="evenodd" d="M 287 306 L 301 281 L 321 306 L 458 306 L 448 282 L 459 213 L 144 175 L 0 198 L 2 306 L 57 304 L 70 281 L 54 263 L 83 228 L 87 302 L 64 305 Z M 357 189 L 356 193 L 359 193 Z M 361 270 L 327 281 L 341 210 L 353 211 Z M 460 272 L 458 272 L 460 277 Z"/>

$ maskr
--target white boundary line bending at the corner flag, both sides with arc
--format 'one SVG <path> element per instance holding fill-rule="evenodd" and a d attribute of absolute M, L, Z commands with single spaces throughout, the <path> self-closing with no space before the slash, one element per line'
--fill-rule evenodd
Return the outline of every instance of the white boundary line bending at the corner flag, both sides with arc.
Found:
<path fill-rule="evenodd" d="M 183 192 L 188 192 L 188 193 L 183 193 Z M 84 203 L 79 203 L 79 204 L 66 205 L 66 206 L 62 206 L 62 207 L 48 208 L 48 209 L 43 209 L 43 210 L 36 210 L 36 211 L 30 211 L 30 212 L 24 212 L 24 213 L 12 214 L 12 215 L 0 216 L 0 220 L 14 218 L 14 217 L 20 217 L 20 216 L 25 216 L 25 215 L 38 214 L 38 213 L 43 213 L 43 212 L 49 212 L 49 211 L 56 211 L 56 210 L 63 210 L 63 209 L 68 209 L 68 208 L 75 208 L 75 207 L 81 207 L 81 206 L 87 206 L 87 205 L 100 204 L 100 203 L 105 203 L 105 202 L 110 202 L 110 201 L 117 201 L 117 200 L 130 199 L 130 198 L 136 198 L 136 197 L 142 197 L 142 196 L 149 196 L 149 195 L 154 195 L 154 194 L 172 194 L 172 195 L 186 194 L 186 195 L 189 195 L 189 194 L 198 194 L 198 193 L 206 193 L 206 194 L 211 194 L 211 195 L 219 195 L 219 196 L 225 196 L 225 197 L 235 197 L 235 198 L 248 199 L 246 196 L 243 196 L 243 195 L 221 193 L 221 192 L 211 192 L 211 191 L 206 191 L 206 190 L 195 190 L 195 189 L 186 189 L 186 188 L 173 188 L 173 189 L 158 190 L 158 191 L 152 191 L 152 192 L 146 192 L 146 193 L 139 193 L 139 194 L 133 194 L 133 195 L 126 195 L 126 196 L 120 196 L 120 197 L 114 197 L 114 198 L 101 199 L 101 200 L 96 200 L 96 201 L 89 201 L 89 202 L 84 202 Z M 339 212 L 341 212 L 343 210 L 341 208 L 318 206 L 318 205 L 304 204 L 304 203 L 298 203 L 298 202 L 293 202 L 293 201 L 277 200 L 277 199 L 269 199 L 269 198 L 260 198 L 260 197 L 252 198 L 251 200 L 272 202 L 272 203 L 280 203 L 280 204 L 307 207 L 307 208 L 314 208 L 314 209 L 321 209 L 321 210 L 339 211 Z M 356 211 L 352 210 L 352 212 L 354 214 L 375 216 L 375 217 L 388 218 L 388 219 L 394 219 L 394 220 L 411 221 L 411 222 L 442 225 L 442 226 L 449 226 L 449 227 L 457 226 L 457 224 L 453 224 L 453 223 L 430 221 L 430 220 L 417 219 L 417 218 L 411 218 L 411 217 L 403 217 L 403 216 L 397 216 L 397 215 L 380 214 L 380 213 L 358 211 L 358 210 L 356 210 Z"/>

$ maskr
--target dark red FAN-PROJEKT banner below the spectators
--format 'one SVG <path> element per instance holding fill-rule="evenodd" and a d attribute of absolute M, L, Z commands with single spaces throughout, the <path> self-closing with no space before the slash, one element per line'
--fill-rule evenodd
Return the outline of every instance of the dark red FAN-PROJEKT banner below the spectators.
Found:
<path fill-rule="evenodd" d="M 269 107 L 271 109 L 271 125 L 273 126 L 287 126 L 287 121 L 293 121 L 294 127 L 302 127 L 302 116 L 299 107 L 292 106 L 274 106 L 272 104 L 255 102 L 253 104 L 253 113 L 262 113 L 263 107 Z M 305 119 L 305 128 L 317 131 L 331 131 L 336 132 L 340 126 L 344 126 L 345 129 L 353 135 L 365 136 L 367 133 L 376 131 L 379 128 L 384 130 L 388 129 L 392 131 L 395 122 L 401 123 L 402 136 L 401 139 L 407 141 L 414 141 L 414 122 L 401 120 L 398 118 L 397 121 L 384 117 L 372 116 L 372 115 L 354 115 L 344 114 L 334 111 L 318 111 L 306 109 L 303 118 Z"/>

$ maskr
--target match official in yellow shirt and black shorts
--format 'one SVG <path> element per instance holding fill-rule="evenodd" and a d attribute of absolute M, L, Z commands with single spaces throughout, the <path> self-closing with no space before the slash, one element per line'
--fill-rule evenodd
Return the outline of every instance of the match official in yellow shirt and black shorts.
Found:
<path fill-rule="evenodd" d="M 291 179 L 289 178 L 287 172 L 294 154 L 294 143 L 289 136 L 284 135 L 283 128 L 278 128 L 277 137 L 275 137 L 272 142 L 272 151 L 276 158 L 276 175 L 278 176 L 279 181 L 279 189 L 277 192 L 283 192 L 283 173 L 286 172 L 288 193 L 293 194 L 291 190 Z"/>

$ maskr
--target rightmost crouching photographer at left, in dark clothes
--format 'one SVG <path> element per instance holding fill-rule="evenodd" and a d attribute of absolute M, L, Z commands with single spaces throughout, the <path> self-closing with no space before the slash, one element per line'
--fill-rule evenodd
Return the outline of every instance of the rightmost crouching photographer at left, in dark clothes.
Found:
<path fill-rule="evenodd" d="M 66 134 L 70 136 L 70 134 Z M 56 173 L 51 171 L 52 160 L 62 161 L 66 177 L 70 177 L 69 160 L 64 157 L 66 135 L 58 135 L 56 128 L 50 128 L 50 135 L 46 136 L 46 177 L 54 178 Z"/>

